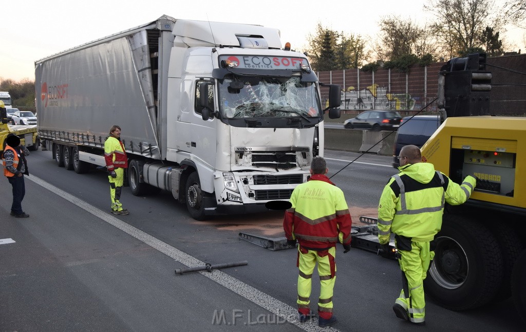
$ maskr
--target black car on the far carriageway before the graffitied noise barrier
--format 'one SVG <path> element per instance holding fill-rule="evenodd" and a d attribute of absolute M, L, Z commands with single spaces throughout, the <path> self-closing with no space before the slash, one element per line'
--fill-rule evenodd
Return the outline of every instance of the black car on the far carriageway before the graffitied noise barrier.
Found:
<path fill-rule="evenodd" d="M 396 130 L 402 117 L 396 110 L 367 110 L 357 117 L 345 120 L 347 129 Z"/>

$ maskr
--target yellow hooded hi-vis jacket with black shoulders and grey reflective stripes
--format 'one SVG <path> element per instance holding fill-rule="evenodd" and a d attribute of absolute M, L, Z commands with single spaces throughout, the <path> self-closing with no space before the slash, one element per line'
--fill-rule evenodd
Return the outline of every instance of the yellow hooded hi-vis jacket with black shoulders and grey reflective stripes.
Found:
<path fill-rule="evenodd" d="M 417 163 L 399 167 L 383 188 L 378 206 L 378 239 L 389 242 L 390 233 L 413 241 L 431 241 L 442 227 L 444 203 L 460 205 L 468 200 L 477 183 L 467 176 L 461 185 L 433 164 Z"/>

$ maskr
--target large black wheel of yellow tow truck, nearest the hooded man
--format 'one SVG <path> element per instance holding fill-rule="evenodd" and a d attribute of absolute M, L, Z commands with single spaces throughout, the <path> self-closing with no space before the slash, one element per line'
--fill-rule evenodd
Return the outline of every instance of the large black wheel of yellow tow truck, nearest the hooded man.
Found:
<path fill-rule="evenodd" d="M 434 260 L 424 280 L 427 295 L 442 307 L 466 310 L 487 304 L 501 288 L 502 254 L 480 222 L 444 214 Z"/>

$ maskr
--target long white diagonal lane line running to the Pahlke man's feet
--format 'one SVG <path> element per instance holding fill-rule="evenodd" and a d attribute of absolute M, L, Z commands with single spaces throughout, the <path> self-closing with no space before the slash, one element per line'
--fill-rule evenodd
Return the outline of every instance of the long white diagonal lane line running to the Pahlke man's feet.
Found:
<path fill-rule="evenodd" d="M 205 263 L 193 256 L 190 256 L 183 251 L 168 245 L 167 243 L 143 232 L 142 230 L 135 228 L 131 225 L 126 224 L 122 220 L 110 215 L 108 212 L 105 212 L 93 205 L 90 205 L 84 202 L 82 199 L 79 199 L 75 196 L 72 196 L 64 190 L 55 187 L 54 185 L 45 182 L 43 179 L 36 177 L 34 175 L 27 176 L 26 179 L 33 181 L 34 183 L 48 189 L 50 192 L 55 193 L 56 195 L 68 200 L 69 202 L 75 204 L 76 206 L 86 210 L 90 214 L 103 219 L 106 223 L 117 227 L 123 232 L 135 237 L 136 239 L 144 242 L 150 247 L 159 250 L 161 253 L 168 255 L 169 257 L 179 261 L 181 264 L 184 264 L 188 267 L 204 266 Z M 254 302 L 258 306 L 267 309 L 272 314 L 275 314 L 277 317 L 281 317 L 284 320 L 287 320 L 290 324 L 294 324 L 299 328 L 305 331 L 338 331 L 334 328 L 321 328 L 318 326 L 318 318 L 310 319 L 308 323 L 299 323 L 298 319 L 298 310 L 292 308 L 291 306 L 281 302 L 280 300 L 271 297 L 268 294 L 263 293 L 259 289 L 256 289 L 252 286 L 249 286 L 222 271 L 217 269 L 212 270 L 212 272 L 200 271 L 201 275 L 204 275 L 211 280 L 216 281 L 221 286 L 224 286 L 234 293 Z M 174 271 L 174 277 L 175 271 Z M 295 291 L 291 289 L 291 291 Z M 211 316 L 211 315 L 210 315 Z"/>

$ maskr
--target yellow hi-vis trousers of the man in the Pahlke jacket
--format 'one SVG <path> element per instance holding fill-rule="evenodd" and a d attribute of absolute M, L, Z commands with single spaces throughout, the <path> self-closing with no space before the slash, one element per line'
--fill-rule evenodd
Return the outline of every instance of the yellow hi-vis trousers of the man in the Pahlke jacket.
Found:
<path fill-rule="evenodd" d="M 332 317 L 332 290 L 336 281 L 336 247 L 328 250 L 308 250 L 298 246 L 298 311 L 309 315 L 312 272 L 318 262 L 320 277 L 320 297 L 318 299 L 318 315 L 321 318 Z"/>

